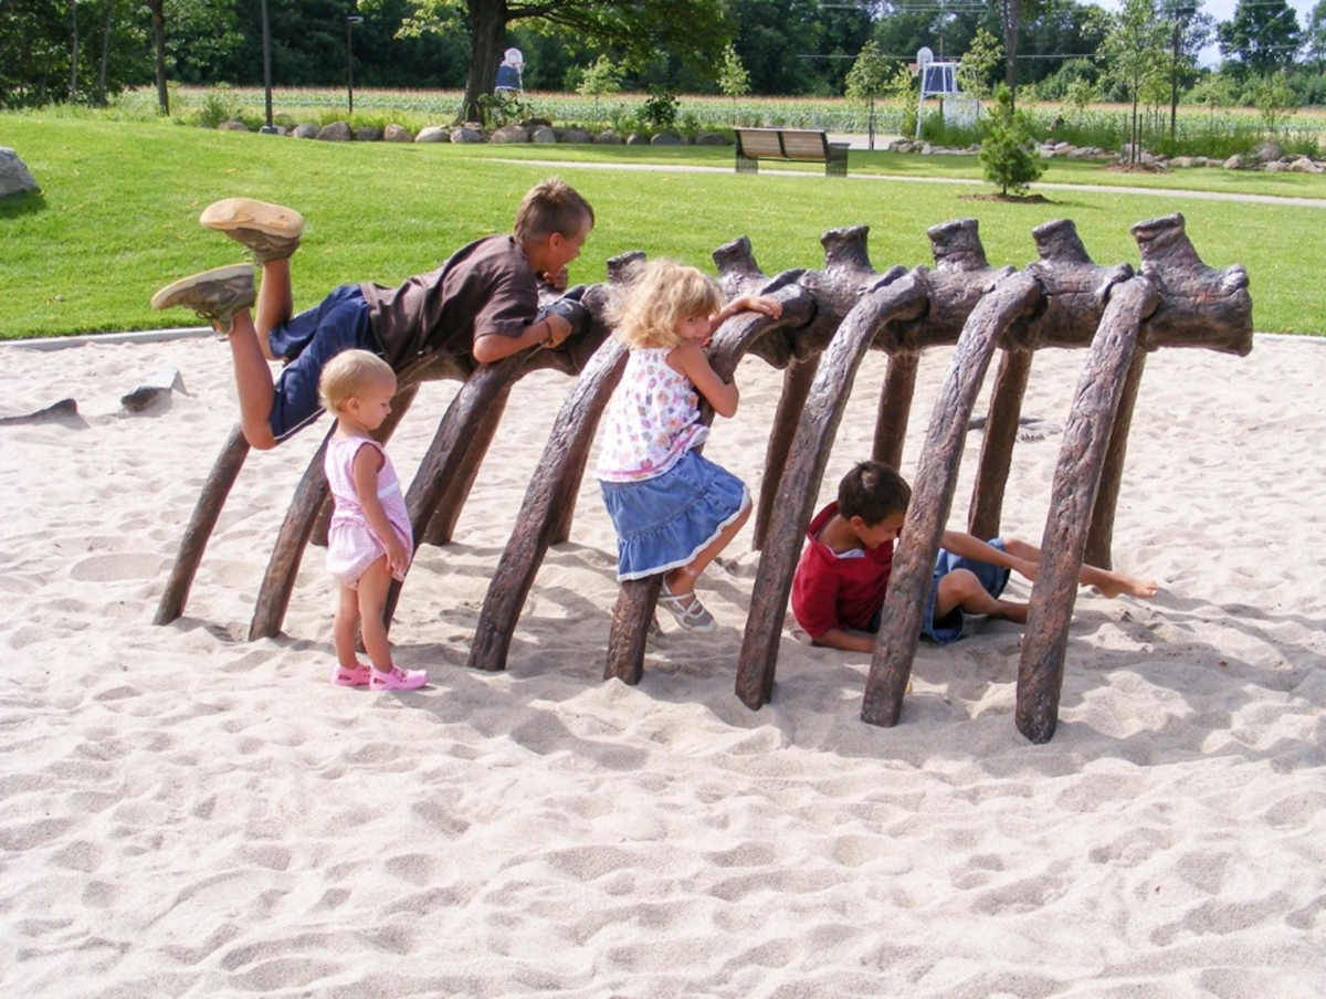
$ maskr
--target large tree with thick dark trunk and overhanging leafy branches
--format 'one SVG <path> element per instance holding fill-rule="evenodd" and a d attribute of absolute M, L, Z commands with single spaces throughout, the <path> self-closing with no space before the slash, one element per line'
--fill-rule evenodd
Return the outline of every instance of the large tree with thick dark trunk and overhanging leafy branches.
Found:
<path fill-rule="evenodd" d="M 574 32 L 586 45 L 614 48 L 638 65 L 659 50 L 716 60 L 729 28 L 719 0 L 412 0 L 406 36 L 463 17 L 469 25 L 469 73 L 461 117 L 483 121 L 479 98 L 492 94 L 507 29 L 538 23 Z"/>

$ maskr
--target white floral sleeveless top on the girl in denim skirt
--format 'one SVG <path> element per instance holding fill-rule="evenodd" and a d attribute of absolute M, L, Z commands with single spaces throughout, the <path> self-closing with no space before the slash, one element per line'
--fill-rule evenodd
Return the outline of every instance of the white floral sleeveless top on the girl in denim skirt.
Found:
<path fill-rule="evenodd" d="M 672 348 L 633 348 L 622 381 L 603 414 L 595 476 L 640 482 L 662 475 L 709 435 L 700 423 L 700 397 L 684 374 L 668 367 Z"/>

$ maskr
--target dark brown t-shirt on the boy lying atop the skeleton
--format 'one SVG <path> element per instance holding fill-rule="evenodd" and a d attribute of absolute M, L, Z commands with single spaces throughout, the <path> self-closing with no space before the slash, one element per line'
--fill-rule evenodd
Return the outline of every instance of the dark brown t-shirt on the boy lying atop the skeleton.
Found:
<path fill-rule="evenodd" d="M 468 354 L 476 336 L 518 337 L 538 312 L 538 283 L 511 236 L 471 243 L 399 288 L 359 289 L 394 367 L 420 354 Z"/>

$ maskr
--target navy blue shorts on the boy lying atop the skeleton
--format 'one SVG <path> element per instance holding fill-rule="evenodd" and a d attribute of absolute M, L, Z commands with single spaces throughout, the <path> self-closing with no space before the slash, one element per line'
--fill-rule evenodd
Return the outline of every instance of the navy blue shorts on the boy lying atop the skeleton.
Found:
<path fill-rule="evenodd" d="M 267 334 L 272 356 L 285 360 L 272 401 L 272 436 L 277 442 L 302 430 L 322 414 L 318 378 L 342 350 L 369 350 L 383 356 L 369 322 L 369 302 L 357 284 L 343 284 L 317 305 L 292 316 Z"/>

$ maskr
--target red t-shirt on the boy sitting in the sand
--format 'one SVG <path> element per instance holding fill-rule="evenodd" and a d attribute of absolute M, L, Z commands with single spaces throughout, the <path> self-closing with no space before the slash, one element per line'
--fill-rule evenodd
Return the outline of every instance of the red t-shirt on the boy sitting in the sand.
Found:
<path fill-rule="evenodd" d="M 875 612 L 884 604 L 894 566 L 892 541 L 847 557 L 821 541 L 819 531 L 837 512 L 838 504 L 830 503 L 810 521 L 806 547 L 792 577 L 792 613 L 812 638 L 819 638 L 830 628 L 869 632 Z"/>

